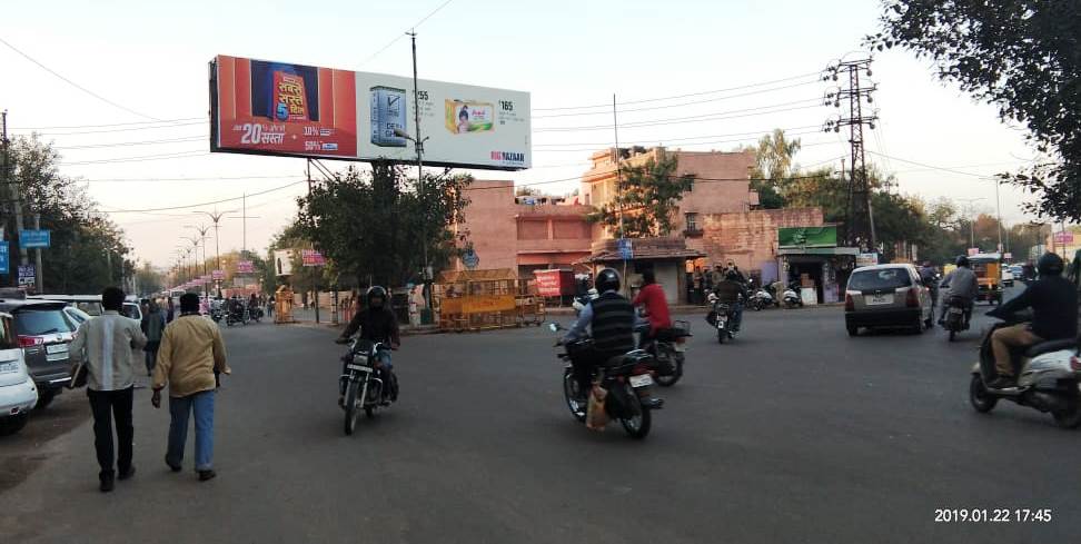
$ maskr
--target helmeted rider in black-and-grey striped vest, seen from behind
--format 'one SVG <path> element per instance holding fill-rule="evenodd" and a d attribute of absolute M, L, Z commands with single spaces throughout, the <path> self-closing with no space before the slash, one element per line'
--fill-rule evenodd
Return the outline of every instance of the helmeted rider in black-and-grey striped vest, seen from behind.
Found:
<path fill-rule="evenodd" d="M 593 337 L 593 356 L 571 358 L 574 376 L 578 380 L 577 399 L 582 403 L 587 400 L 588 392 L 593 387 L 593 367 L 634 349 L 634 306 L 619 295 L 619 273 L 612 268 L 601 270 L 594 286 L 601 296 L 582 308 L 578 320 L 562 340 L 567 344 L 591 334 Z M 642 403 L 649 407 L 659 407 L 662 404 L 654 398 L 643 398 Z"/>

